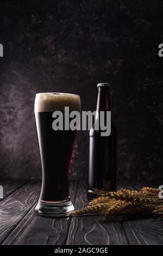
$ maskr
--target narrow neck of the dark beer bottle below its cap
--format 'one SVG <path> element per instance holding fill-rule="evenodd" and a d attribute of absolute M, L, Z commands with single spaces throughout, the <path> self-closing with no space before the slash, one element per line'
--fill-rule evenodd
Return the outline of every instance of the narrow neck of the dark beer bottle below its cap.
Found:
<path fill-rule="evenodd" d="M 96 111 L 111 111 L 109 87 L 98 88 L 98 99 Z"/>

